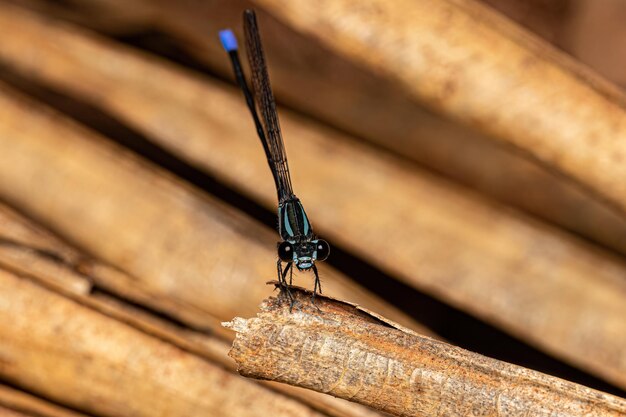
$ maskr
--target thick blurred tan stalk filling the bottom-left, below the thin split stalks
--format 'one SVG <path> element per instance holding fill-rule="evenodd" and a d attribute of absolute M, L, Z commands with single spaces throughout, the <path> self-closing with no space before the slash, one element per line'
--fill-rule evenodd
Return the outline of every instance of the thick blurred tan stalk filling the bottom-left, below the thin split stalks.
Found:
<path fill-rule="evenodd" d="M 87 413 L 324 415 L 2 270 L 0 334 L 3 380 Z"/>

